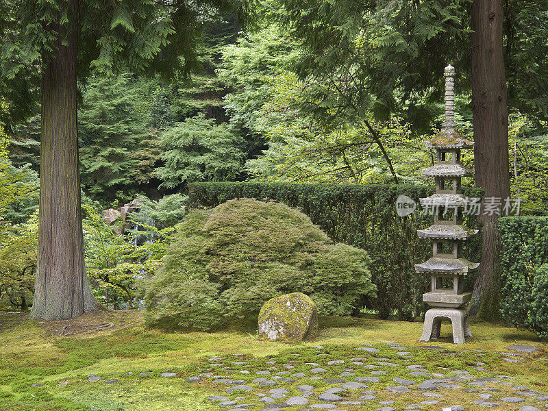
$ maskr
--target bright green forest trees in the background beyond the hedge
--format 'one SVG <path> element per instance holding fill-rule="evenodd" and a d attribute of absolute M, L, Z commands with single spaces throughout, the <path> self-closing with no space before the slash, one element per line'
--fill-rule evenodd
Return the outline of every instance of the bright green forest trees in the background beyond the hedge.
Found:
<path fill-rule="evenodd" d="M 160 199 L 184 193 L 188 184 L 204 181 L 368 184 L 397 178 L 399 182 L 428 183 L 421 169 L 432 163 L 432 157 L 422 142 L 443 121 L 442 73 L 436 73 L 438 87 L 425 89 L 421 95 L 396 93 L 394 101 L 371 101 L 364 108 L 364 119 L 349 121 L 347 114 L 340 113 L 337 121 L 322 121 L 314 112 L 317 108 L 311 108 L 310 97 L 323 80 L 310 75 L 303 81 L 299 73 L 307 58 L 303 41 L 282 29 L 269 10 L 264 11 L 266 17 L 247 32 L 240 29 L 236 12 L 212 17 L 199 40 L 199 66 L 190 78 L 167 82 L 122 73 L 90 77 L 79 84 L 80 163 L 87 197 L 108 208 L 137 195 Z M 514 50 L 515 58 L 508 58 L 508 65 L 524 59 L 524 45 L 536 47 L 540 40 L 536 36 L 547 25 L 543 21 L 536 27 L 536 36 L 526 41 L 518 36 L 516 31 L 538 18 L 532 15 L 534 10 L 529 11 L 531 15 L 515 16 L 519 25 L 512 28 L 512 36 L 516 38 L 506 38 L 508 49 L 519 50 Z M 392 40 L 386 38 L 386 42 L 386 47 L 392 47 Z M 535 55 L 540 55 L 538 49 Z M 459 75 L 458 124 L 460 132 L 470 137 L 469 78 L 464 63 L 462 69 L 459 63 L 453 62 Z M 546 80 L 536 77 L 538 97 L 527 99 L 520 88 L 523 80 L 512 77 L 515 71 L 508 68 L 512 196 L 523 197 L 522 214 L 546 214 L 548 131 L 546 98 L 540 93 Z M 341 84 L 342 77 L 339 73 Z M 336 96 L 324 97 L 320 106 L 336 112 L 340 104 Z M 25 175 L 26 182 L 37 187 L 39 107 L 24 121 L 10 116 L 9 110 L 4 114 L 13 173 Z M 464 158 L 468 166 L 473 166 L 471 157 Z M 473 180 L 465 184 L 473 185 Z M 12 203 L 5 216 L 22 223 L 34 213 L 37 202 L 36 191 L 36 196 Z"/>

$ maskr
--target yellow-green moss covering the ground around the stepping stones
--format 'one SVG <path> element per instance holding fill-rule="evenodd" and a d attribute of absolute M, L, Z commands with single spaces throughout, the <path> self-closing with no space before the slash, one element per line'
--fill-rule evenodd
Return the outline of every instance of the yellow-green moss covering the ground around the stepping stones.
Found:
<path fill-rule="evenodd" d="M 323 364 L 341 358 L 348 364 L 351 357 L 365 356 L 356 353 L 356 347 L 365 344 L 377 347 L 380 350 L 378 356 L 395 362 L 405 361 L 395 356 L 396 351 L 386 345 L 388 342 L 407 347 L 412 364 L 421 364 L 430 372 L 446 368 L 469 369 L 475 377 L 510 375 L 516 377 L 512 384 L 523 384 L 540 393 L 548 393 L 548 344 L 540 342 L 530 332 L 479 321 L 471 324 L 474 338 L 456 346 L 449 339 L 447 326 L 443 327 L 440 340 L 419 343 L 422 323 L 382 321 L 372 317 L 321 317 L 319 338 L 313 342 L 287 345 L 258 340 L 256 319 L 214 333 L 164 333 L 145 328 L 138 311 L 99 312 L 72 321 L 43 323 L 29 321 L 26 317 L 24 313 L 0 313 L 0 411 L 219 410 L 219 406 L 205 400 L 208 395 L 235 397 L 238 393 L 227 394 L 227 386 L 213 384 L 211 379 L 199 383 L 186 381 L 186 377 L 210 370 L 208 359 L 212 356 L 223 357 L 223 366 L 230 366 L 234 375 L 247 383 L 248 379 L 258 377 L 256 371 L 268 368 L 266 362 L 292 364 L 295 366 L 292 373 L 308 372 L 310 366 L 306 366 L 306 362 Z M 508 347 L 516 344 L 533 345 L 540 351 L 516 357 L 521 360 L 519 363 L 503 360 L 501 352 L 508 352 Z M 323 346 L 321 351 L 313 348 L 318 345 Z M 436 345 L 443 350 L 419 348 L 424 345 Z M 484 371 L 471 368 L 477 362 L 483 363 Z M 324 377 L 334 377 L 341 372 L 340 369 L 328 370 Z M 249 374 L 240 371 L 249 371 Z M 176 375 L 162 377 L 165 372 Z M 407 372 L 394 367 L 380 376 L 381 383 L 388 384 L 393 377 L 405 378 Z M 101 380 L 88 382 L 87 377 L 92 374 Z M 232 378 L 236 378 L 234 375 Z M 116 382 L 106 384 L 105 379 L 116 379 Z M 59 385 L 64 382 L 66 384 Z M 44 385 L 33 387 L 33 384 Z M 298 384 L 309 383 L 297 381 L 289 383 L 288 388 Z M 375 389 L 374 384 L 370 389 Z M 511 387 L 508 390 L 510 395 Z M 375 410 L 379 407 L 378 401 L 384 399 L 395 399 L 397 402 L 393 406 L 403 408 L 405 403 L 417 403 L 419 399 L 414 395 L 414 392 L 394 395 L 379 390 L 377 401 L 371 406 L 349 405 L 344 408 Z M 464 401 L 461 390 L 449 390 L 444 395 L 449 403 Z M 421 397 L 420 401 L 425 399 Z M 473 399 L 477 399 L 477 395 Z M 260 410 L 257 401 L 258 397 L 255 409 Z M 534 405 L 539 406 L 536 402 Z M 519 406 L 507 404 L 493 409 L 518 410 Z M 298 408 L 303 407 L 285 409 Z M 425 408 L 438 409 L 439 406 Z M 466 409 L 484 408 L 469 406 Z"/>

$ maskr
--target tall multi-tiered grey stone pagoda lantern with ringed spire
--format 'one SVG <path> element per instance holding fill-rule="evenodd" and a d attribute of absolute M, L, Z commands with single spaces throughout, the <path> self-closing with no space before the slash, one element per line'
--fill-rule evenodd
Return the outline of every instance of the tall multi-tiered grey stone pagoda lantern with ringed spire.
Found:
<path fill-rule="evenodd" d="M 421 206 L 434 214 L 434 225 L 418 230 L 419 238 L 432 240 L 434 256 L 427 262 L 415 265 L 417 273 L 432 276 L 432 291 L 423 294 L 423 301 L 430 308 L 425 315 L 421 341 L 440 336 L 442 319 L 453 325 L 453 342 L 464 343 L 471 337 L 468 308 L 471 292 L 464 292 L 464 276 L 477 269 L 479 263 L 464 258 L 464 242 L 477 234 L 477 229 L 462 225 L 462 214 L 468 199 L 462 195 L 460 179 L 471 175 L 461 164 L 460 151 L 473 148 L 474 143 L 460 138 L 454 119 L 455 69 L 445 68 L 445 122 L 441 132 L 426 147 L 436 151 L 436 164 L 423 169 L 423 175 L 434 177 L 436 193 L 421 199 Z"/>

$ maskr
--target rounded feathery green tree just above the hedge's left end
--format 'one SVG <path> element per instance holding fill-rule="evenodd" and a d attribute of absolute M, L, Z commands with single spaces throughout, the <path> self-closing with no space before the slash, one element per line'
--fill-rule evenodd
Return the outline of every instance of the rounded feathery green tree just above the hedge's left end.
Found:
<path fill-rule="evenodd" d="M 162 134 L 164 166 L 156 170 L 162 185 L 172 188 L 203 180 L 234 179 L 244 153 L 240 137 L 226 125 L 197 116 L 177 123 Z"/>

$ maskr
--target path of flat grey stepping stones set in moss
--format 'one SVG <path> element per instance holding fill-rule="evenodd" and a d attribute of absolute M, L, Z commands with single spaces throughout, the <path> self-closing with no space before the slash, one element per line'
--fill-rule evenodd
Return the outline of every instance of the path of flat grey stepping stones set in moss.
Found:
<path fill-rule="evenodd" d="M 299 346 L 263 358 L 213 356 L 184 373 L 134 371 L 105 379 L 104 384 L 162 378 L 164 384 L 199 388 L 197 392 L 207 393 L 203 400 L 219 411 L 541 411 L 548 409 L 548 388 L 538 386 L 537 392 L 523 385 L 519 375 L 500 375 L 505 361 L 527 363 L 538 358 L 539 350 L 512 345 L 508 352 L 484 356 L 481 351 L 397 343 Z M 506 373 L 515 372 L 513 364 L 506 367 Z M 84 384 L 101 378 L 82 377 Z M 455 398 L 459 404 L 449 402 Z"/>

